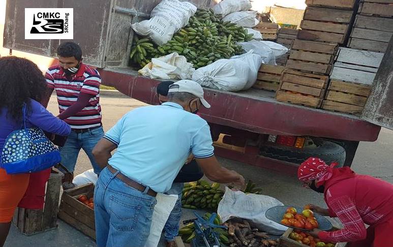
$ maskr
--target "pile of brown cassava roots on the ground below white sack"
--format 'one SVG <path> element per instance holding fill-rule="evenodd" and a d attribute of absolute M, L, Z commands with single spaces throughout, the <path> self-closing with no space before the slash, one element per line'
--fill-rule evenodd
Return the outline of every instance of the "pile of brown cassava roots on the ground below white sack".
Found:
<path fill-rule="evenodd" d="M 245 219 L 232 218 L 223 224 L 228 228 L 230 247 L 274 247 L 278 241 L 253 228 Z"/>

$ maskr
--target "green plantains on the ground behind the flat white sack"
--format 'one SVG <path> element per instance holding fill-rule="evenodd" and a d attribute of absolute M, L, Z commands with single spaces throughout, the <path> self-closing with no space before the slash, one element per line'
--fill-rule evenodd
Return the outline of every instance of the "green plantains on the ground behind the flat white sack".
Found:
<path fill-rule="evenodd" d="M 260 191 L 261 189 L 256 188 L 256 184 L 250 180 L 243 192 L 259 194 Z M 189 209 L 208 208 L 217 211 L 223 195 L 224 191 L 220 190 L 220 183 L 210 184 L 205 180 L 189 182 L 184 184 L 182 205 Z"/>

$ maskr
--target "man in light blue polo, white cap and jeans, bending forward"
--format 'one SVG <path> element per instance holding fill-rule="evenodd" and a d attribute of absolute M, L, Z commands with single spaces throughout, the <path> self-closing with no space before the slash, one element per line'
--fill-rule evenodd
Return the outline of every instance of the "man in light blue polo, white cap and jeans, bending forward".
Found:
<path fill-rule="evenodd" d="M 144 246 L 155 196 L 171 188 L 190 153 L 210 180 L 244 186 L 243 176 L 215 158 L 207 122 L 193 114 L 202 105 L 210 108 L 202 87 L 178 81 L 167 103 L 128 112 L 97 144 L 94 156 L 105 167 L 94 196 L 99 247 Z"/>

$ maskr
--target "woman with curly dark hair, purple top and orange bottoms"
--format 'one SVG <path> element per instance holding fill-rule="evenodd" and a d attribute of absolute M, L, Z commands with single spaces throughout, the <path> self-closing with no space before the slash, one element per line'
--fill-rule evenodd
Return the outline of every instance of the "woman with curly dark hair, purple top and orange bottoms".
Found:
<path fill-rule="evenodd" d="M 38 127 L 62 136 L 71 132 L 66 122 L 53 116 L 39 103 L 45 91 L 45 78 L 32 61 L 15 56 L 0 58 L 0 247 L 4 245 L 14 211 L 29 186 L 31 176 L 7 174 L 1 168 L 1 150 L 8 135 L 22 128 L 23 106 L 26 105 L 27 109 L 27 128 Z"/>

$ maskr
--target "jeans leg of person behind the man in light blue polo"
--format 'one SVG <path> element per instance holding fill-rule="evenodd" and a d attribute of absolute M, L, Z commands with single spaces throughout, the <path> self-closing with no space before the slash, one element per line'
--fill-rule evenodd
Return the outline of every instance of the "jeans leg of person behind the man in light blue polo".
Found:
<path fill-rule="evenodd" d="M 182 191 L 184 188 L 183 182 L 174 182 L 172 187 L 165 194 L 167 195 L 177 195 L 177 201 L 173 207 L 169 218 L 165 223 L 165 240 L 171 242 L 175 240 L 175 237 L 179 234 L 180 218 L 182 217 Z"/>

